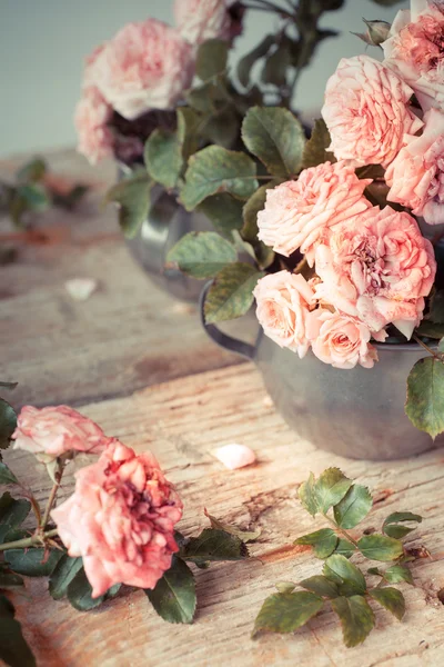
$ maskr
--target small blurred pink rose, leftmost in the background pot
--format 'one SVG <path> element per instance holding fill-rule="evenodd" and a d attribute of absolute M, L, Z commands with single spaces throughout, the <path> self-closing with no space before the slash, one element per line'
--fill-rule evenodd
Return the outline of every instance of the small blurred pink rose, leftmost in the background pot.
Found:
<path fill-rule="evenodd" d="M 95 165 L 113 155 L 114 136 L 108 127 L 112 108 L 94 86 L 83 90 L 77 106 L 74 125 L 78 132 L 78 151 Z"/>

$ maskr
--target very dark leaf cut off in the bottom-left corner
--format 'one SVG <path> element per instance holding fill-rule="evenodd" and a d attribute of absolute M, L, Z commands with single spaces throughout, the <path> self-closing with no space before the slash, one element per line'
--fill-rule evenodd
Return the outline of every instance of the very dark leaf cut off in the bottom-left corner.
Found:
<path fill-rule="evenodd" d="M 14 608 L 4 595 L 0 595 L 0 659 L 10 667 L 36 667 L 21 625 L 14 618 Z"/>

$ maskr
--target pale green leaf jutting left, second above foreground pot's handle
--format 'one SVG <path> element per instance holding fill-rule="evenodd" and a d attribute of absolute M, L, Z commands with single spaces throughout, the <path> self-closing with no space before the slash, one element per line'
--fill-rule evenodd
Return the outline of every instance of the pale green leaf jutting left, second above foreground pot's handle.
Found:
<path fill-rule="evenodd" d="M 191 231 L 167 255 L 167 268 L 176 267 L 198 279 L 212 278 L 238 258 L 235 248 L 214 231 Z"/>

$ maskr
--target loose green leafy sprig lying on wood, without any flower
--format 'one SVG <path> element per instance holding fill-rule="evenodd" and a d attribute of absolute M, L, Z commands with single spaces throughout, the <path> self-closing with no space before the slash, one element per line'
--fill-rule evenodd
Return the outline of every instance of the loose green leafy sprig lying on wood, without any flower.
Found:
<path fill-rule="evenodd" d="M 278 593 L 264 601 L 254 624 L 253 637 L 262 631 L 293 633 L 330 605 L 337 616 L 347 647 L 364 641 L 375 619 L 369 601 L 374 600 L 401 620 L 405 614 L 403 594 L 391 584 L 413 584 L 406 565 L 411 557 L 401 541 L 414 530 L 422 517 L 410 511 L 393 512 L 383 522 L 382 531 L 356 538 L 349 532 L 372 508 L 372 496 L 364 486 L 353 484 L 339 468 L 329 468 L 315 479 L 311 474 L 299 489 L 306 511 L 321 515 L 331 528 L 321 528 L 295 540 L 309 545 L 314 556 L 324 560 L 322 574 L 296 584 L 276 584 Z M 370 587 L 361 569 L 351 563 L 354 555 L 370 560 L 393 563 L 385 570 L 367 569 L 379 577 Z"/>

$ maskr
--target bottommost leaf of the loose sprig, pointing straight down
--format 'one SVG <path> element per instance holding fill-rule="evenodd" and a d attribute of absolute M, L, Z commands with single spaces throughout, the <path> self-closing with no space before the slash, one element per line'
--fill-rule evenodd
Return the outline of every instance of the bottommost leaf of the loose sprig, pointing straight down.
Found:
<path fill-rule="evenodd" d="M 339 616 L 344 644 L 349 648 L 362 644 L 374 627 L 374 615 L 366 599 L 360 595 L 332 600 Z"/>

